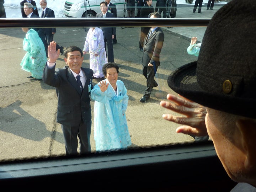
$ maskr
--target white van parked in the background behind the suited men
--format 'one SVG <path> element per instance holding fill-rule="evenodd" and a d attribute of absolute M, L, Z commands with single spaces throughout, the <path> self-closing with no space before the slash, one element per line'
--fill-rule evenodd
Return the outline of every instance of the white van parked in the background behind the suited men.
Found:
<path fill-rule="evenodd" d="M 64 5 L 66 17 L 90 17 L 100 13 L 100 3 L 105 0 L 67 0 Z M 125 0 L 111 0 L 116 5 L 117 17 L 124 17 Z"/>

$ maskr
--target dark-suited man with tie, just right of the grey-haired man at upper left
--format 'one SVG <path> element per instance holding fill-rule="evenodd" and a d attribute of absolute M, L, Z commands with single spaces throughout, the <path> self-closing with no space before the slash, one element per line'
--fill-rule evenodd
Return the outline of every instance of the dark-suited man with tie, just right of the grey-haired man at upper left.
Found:
<path fill-rule="evenodd" d="M 40 0 L 39 4 L 42 8 L 41 18 L 55 17 L 54 11 L 47 7 L 47 0 Z M 56 33 L 56 28 L 44 28 L 44 31 L 46 33 L 47 44 L 49 45 L 50 42 L 53 41 L 53 35 Z M 62 46 L 57 44 L 56 49 L 60 49 L 60 55 L 63 54 L 64 48 Z"/>

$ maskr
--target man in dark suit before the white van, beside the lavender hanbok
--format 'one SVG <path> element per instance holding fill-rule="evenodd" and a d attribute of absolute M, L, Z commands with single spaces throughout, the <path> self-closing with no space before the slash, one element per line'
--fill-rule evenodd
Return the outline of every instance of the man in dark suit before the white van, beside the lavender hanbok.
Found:
<path fill-rule="evenodd" d="M 114 14 L 108 12 L 107 2 L 102 1 L 100 3 L 101 13 L 98 13 L 96 17 L 114 17 Z M 107 60 L 110 63 L 114 63 L 114 50 L 113 50 L 113 39 L 116 36 L 116 27 L 101 27 L 104 36 L 105 50 L 107 52 Z M 107 49 L 106 49 L 107 47 Z"/>

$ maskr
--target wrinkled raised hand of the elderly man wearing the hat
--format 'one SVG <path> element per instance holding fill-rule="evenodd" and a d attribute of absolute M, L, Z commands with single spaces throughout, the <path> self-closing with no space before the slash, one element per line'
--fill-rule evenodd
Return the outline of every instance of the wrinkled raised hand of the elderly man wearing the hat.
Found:
<path fill-rule="evenodd" d="M 206 108 L 198 103 L 188 100 L 179 95 L 179 97 L 167 94 L 168 101 L 161 101 L 160 105 L 174 112 L 180 113 L 183 116 L 175 116 L 172 114 L 163 114 L 162 117 L 168 121 L 172 121 L 182 126 L 176 129 L 176 133 L 184 133 L 195 136 L 208 135 L 205 116 Z"/>

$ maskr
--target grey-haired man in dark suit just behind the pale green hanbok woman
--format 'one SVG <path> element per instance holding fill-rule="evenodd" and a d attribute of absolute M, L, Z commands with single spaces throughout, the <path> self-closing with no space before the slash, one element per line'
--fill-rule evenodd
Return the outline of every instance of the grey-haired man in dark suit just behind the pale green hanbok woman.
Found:
<path fill-rule="evenodd" d="M 28 2 L 24 3 L 24 12 L 28 18 L 39 18 L 38 15 L 34 14 L 33 5 L 31 3 L 28 3 Z M 47 55 L 48 44 L 46 41 L 46 34 L 45 34 L 44 29 L 43 28 L 33 28 L 33 30 L 35 30 L 38 33 L 39 37 L 41 38 L 41 40 L 44 44 L 44 48 L 46 50 L 46 56 L 48 57 L 48 55 Z"/>

